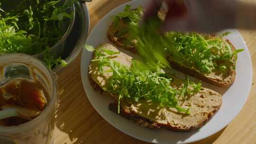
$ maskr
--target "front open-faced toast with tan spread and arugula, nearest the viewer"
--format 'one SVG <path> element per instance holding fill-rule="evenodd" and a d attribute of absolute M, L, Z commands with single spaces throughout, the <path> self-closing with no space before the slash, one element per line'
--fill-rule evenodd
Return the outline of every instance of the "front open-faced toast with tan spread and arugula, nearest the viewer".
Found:
<path fill-rule="evenodd" d="M 116 100 L 110 110 L 138 125 L 187 132 L 203 126 L 221 106 L 221 95 L 201 83 L 149 68 L 110 44 L 86 47 L 93 51 L 91 85 Z"/>

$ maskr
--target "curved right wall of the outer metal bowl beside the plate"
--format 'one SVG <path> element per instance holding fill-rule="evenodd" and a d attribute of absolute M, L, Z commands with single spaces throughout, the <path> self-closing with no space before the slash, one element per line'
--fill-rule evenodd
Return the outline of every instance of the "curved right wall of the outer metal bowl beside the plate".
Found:
<path fill-rule="evenodd" d="M 81 0 L 80 2 L 76 2 L 74 6 L 76 13 L 73 28 L 65 40 L 64 50 L 61 55 L 62 59 L 68 64 L 70 64 L 82 51 L 88 36 L 90 25 L 89 12 L 85 1 Z M 61 72 L 66 67 L 58 65 L 53 68 L 53 72 Z"/>

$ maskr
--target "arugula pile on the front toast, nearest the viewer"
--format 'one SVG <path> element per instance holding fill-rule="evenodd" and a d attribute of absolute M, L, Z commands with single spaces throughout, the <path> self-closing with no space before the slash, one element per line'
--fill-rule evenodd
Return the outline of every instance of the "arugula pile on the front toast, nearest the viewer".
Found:
<path fill-rule="evenodd" d="M 160 66 L 152 71 L 147 64 L 133 60 L 130 67 L 121 65 L 110 58 L 110 55 L 119 54 L 102 47 L 94 49 L 90 45 L 85 45 L 88 51 L 95 51 L 95 59 L 92 63 L 97 63 L 99 72 L 103 73 L 102 67 L 108 66 L 112 72 L 110 81 L 105 91 L 118 96 L 118 113 L 120 112 L 120 100 L 130 99 L 139 101 L 139 99 L 152 100 L 163 107 L 176 108 L 177 111 L 190 114 L 189 109 L 178 105 L 179 99 L 197 93 L 201 90 L 201 83 L 195 84 L 192 81 L 183 81 L 183 84 L 174 88 L 171 86 L 173 78 L 166 74 Z M 105 53 L 105 54 L 104 54 Z"/>

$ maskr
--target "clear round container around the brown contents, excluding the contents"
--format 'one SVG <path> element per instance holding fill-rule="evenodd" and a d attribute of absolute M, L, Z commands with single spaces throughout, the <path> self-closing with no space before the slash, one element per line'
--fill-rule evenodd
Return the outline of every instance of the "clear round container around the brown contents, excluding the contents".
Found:
<path fill-rule="evenodd" d="M 18 126 L 0 126 L 0 142 L 16 144 L 53 144 L 58 87 L 54 74 L 38 59 L 27 54 L 0 55 L 0 86 L 17 78 L 40 81 L 49 93 L 47 105 L 39 116 Z M 10 143 L 11 144 L 11 143 Z"/>

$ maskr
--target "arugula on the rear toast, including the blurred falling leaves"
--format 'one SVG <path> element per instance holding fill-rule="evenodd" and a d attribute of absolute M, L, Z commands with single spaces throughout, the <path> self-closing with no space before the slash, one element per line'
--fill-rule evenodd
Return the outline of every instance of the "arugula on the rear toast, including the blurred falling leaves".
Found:
<path fill-rule="evenodd" d="M 114 23 L 118 23 L 120 18 L 126 19 L 129 29 L 126 30 L 129 41 L 133 43 L 137 53 L 145 62 L 157 65 L 158 62 L 170 67 L 166 60 L 168 56 L 171 60 L 199 72 L 209 73 L 213 71 L 227 72 L 235 69 L 237 54 L 243 49 L 232 51 L 231 45 L 226 42 L 223 36 L 212 37 L 198 33 L 168 32 L 161 34 L 159 28 L 162 20 L 153 16 L 148 21 L 139 25 L 142 16 L 142 9 L 129 10 L 127 5 L 124 12 L 119 13 L 114 18 Z M 137 14 L 139 11 L 140 15 Z M 125 15 L 123 14 L 125 13 Z M 140 16 L 140 18 L 138 18 Z M 134 20 L 134 17 L 136 20 Z M 119 30 L 119 31 L 122 31 Z"/>

